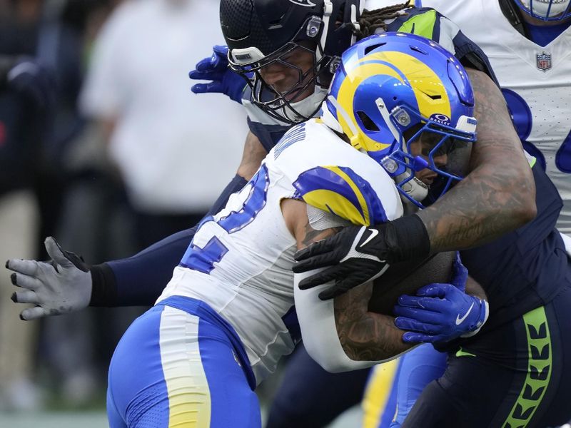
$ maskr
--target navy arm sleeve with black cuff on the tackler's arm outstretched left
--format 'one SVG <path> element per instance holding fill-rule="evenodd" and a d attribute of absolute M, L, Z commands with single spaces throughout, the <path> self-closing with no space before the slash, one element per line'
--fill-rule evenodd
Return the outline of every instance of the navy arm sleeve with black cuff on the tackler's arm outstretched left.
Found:
<path fill-rule="evenodd" d="M 214 203 L 208 215 L 218 213 L 232 193 L 247 181 L 236 175 Z M 198 226 L 165 238 L 130 258 L 91 267 L 93 288 L 90 306 L 151 306 L 171 279 Z"/>

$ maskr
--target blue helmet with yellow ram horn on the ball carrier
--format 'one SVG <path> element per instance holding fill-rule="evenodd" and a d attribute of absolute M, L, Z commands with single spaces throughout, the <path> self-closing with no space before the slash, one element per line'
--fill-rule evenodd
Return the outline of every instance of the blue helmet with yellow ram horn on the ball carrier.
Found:
<path fill-rule="evenodd" d="M 423 208 L 428 186 L 415 172 L 437 173 L 438 195 L 462 178 L 435 158 L 475 141 L 473 111 L 472 86 L 453 54 L 420 36 L 385 33 L 345 51 L 322 119 L 383 165 L 400 193 Z M 410 145 L 421 135 L 432 143 L 425 157 L 413 156 Z"/>

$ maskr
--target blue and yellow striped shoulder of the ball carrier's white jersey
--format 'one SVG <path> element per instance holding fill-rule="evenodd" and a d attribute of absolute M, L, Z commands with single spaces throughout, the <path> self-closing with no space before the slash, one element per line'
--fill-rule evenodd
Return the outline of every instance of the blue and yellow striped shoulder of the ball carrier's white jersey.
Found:
<path fill-rule="evenodd" d="M 345 218 L 355 225 L 384 223 L 388 220 L 383 203 L 373 187 L 351 168 L 317 166 L 301 173 L 293 187 L 294 198 Z M 394 195 L 394 192 L 388 194 Z"/>

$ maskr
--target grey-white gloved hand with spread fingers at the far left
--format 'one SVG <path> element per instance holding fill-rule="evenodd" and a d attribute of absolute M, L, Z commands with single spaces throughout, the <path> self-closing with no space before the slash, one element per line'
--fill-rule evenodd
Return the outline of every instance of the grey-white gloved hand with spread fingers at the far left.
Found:
<path fill-rule="evenodd" d="M 78 255 L 61 250 L 54 238 L 46 238 L 45 245 L 50 263 L 19 259 L 6 262 L 6 268 L 14 271 L 12 284 L 24 289 L 14 292 L 12 300 L 36 305 L 21 312 L 22 320 L 75 312 L 91 300 L 89 267 Z"/>

